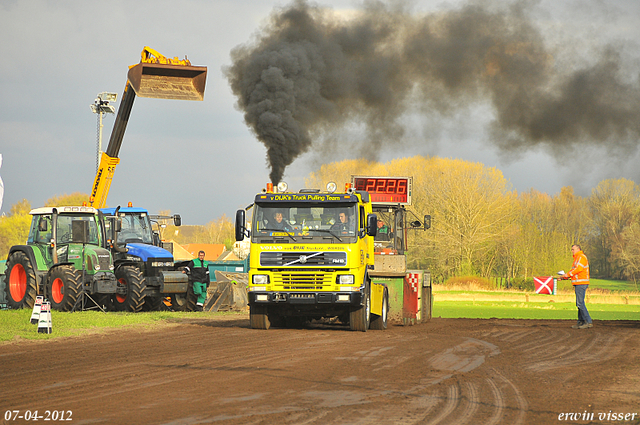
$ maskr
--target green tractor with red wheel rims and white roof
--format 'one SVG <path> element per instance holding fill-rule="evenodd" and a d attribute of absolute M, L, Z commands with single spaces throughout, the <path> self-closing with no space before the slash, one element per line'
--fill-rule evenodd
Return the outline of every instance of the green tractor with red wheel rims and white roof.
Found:
<path fill-rule="evenodd" d="M 60 311 L 106 303 L 117 291 L 104 217 L 93 207 L 43 207 L 33 216 L 27 245 L 9 250 L 5 293 L 9 308 L 32 308 L 37 295 Z M 116 223 L 117 225 L 117 223 Z M 87 297 L 88 296 L 88 297 Z"/>

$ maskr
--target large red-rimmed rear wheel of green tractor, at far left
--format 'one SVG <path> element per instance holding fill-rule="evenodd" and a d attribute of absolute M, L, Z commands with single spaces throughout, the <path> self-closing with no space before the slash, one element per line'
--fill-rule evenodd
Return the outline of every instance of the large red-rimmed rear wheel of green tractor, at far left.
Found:
<path fill-rule="evenodd" d="M 33 308 L 38 292 L 36 272 L 24 252 L 16 251 L 11 254 L 7 260 L 4 282 L 9 307 Z"/>

